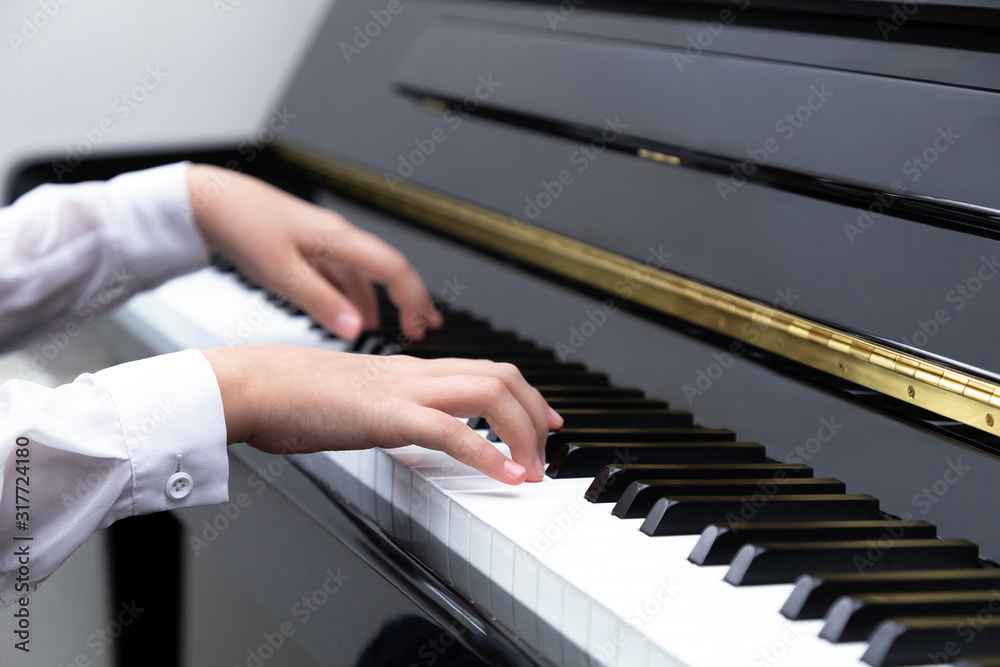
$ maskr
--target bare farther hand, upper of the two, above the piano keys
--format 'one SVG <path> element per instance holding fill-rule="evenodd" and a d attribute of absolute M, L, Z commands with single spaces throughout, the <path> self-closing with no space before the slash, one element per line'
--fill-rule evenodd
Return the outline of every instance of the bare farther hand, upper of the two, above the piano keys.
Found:
<path fill-rule="evenodd" d="M 379 326 L 373 282 L 385 286 L 410 338 L 443 324 L 406 257 L 337 213 L 207 165 L 191 166 L 188 189 L 210 252 L 224 253 L 341 338 Z"/>

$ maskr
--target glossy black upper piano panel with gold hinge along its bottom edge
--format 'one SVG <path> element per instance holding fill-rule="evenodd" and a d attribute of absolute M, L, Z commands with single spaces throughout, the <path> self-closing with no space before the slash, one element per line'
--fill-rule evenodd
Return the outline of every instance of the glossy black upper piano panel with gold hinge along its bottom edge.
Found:
<path fill-rule="evenodd" d="M 753 9 L 716 25 L 387 7 L 331 12 L 282 103 L 288 159 L 438 232 L 994 431 L 1000 56 L 797 32 Z"/>

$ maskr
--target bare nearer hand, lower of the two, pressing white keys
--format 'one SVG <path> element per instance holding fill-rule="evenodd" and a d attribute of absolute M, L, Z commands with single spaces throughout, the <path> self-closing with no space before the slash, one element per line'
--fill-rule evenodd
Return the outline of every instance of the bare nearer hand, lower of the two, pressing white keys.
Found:
<path fill-rule="evenodd" d="M 206 350 L 230 443 L 276 454 L 416 444 L 506 484 L 540 481 L 562 418 L 516 367 L 306 347 Z M 455 417 L 486 417 L 513 461 Z"/>

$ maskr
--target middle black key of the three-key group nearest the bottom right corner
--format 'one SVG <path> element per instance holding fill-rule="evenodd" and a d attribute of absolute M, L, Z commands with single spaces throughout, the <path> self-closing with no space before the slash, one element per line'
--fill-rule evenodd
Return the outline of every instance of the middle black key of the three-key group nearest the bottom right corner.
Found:
<path fill-rule="evenodd" d="M 897 616 L 959 616 L 973 618 L 989 605 L 1000 610 L 1000 591 L 939 593 L 868 593 L 842 597 L 833 603 L 820 630 L 823 639 L 839 644 L 863 641 L 879 623 Z"/>

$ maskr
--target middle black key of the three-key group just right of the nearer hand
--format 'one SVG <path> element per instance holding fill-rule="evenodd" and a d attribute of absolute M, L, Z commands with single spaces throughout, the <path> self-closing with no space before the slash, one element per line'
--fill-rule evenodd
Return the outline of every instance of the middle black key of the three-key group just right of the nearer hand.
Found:
<path fill-rule="evenodd" d="M 611 511 L 619 519 L 642 519 L 660 498 L 677 496 L 770 496 L 830 495 L 844 493 L 844 483 L 839 479 L 710 479 L 710 480 L 637 480 L 628 485 L 625 493 Z"/>

